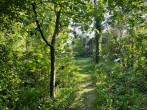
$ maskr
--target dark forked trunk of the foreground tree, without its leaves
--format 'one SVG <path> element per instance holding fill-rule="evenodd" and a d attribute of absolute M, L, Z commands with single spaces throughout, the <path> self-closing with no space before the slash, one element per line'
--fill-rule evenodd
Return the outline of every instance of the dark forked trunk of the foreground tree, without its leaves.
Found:
<path fill-rule="evenodd" d="M 37 12 L 36 12 L 36 4 L 32 4 L 32 7 L 33 7 L 33 11 L 34 11 L 34 14 L 36 16 L 36 24 L 37 24 L 37 27 L 39 29 L 39 32 L 41 34 L 41 37 L 42 39 L 44 40 L 44 42 L 50 47 L 50 53 L 51 53 L 51 77 L 50 77 L 50 97 L 51 98 L 55 98 L 55 75 L 56 75 L 56 68 L 55 68 L 55 43 L 56 43 L 56 39 L 57 39 L 57 36 L 59 34 L 59 31 L 60 31 L 60 27 L 59 27 L 59 22 L 60 22 L 60 15 L 61 15 L 61 10 L 57 10 L 57 7 L 54 6 L 54 12 L 55 12 L 55 15 L 56 15 L 56 20 L 55 20 L 55 29 L 54 29 L 54 34 L 52 36 L 52 40 L 51 40 L 51 43 L 49 43 L 44 34 L 43 34 L 43 31 L 41 29 L 41 26 L 39 24 L 39 21 L 38 21 L 38 17 L 37 17 Z"/>

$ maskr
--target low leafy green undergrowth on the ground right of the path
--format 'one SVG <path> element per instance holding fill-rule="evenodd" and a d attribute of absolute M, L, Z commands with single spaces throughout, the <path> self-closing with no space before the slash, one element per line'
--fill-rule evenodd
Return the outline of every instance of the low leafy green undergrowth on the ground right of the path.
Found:
<path fill-rule="evenodd" d="M 96 110 L 147 108 L 147 85 L 141 73 L 108 60 L 101 61 L 95 70 Z"/>

